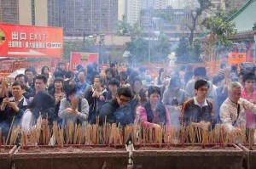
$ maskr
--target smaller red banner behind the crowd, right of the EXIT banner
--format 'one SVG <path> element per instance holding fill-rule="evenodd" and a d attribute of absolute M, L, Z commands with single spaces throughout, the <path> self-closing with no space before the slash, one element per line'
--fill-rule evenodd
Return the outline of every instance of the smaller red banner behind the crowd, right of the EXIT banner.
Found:
<path fill-rule="evenodd" d="M 72 52 L 70 56 L 70 70 L 76 70 L 77 65 L 86 66 L 91 63 L 98 63 L 99 54 Z"/>

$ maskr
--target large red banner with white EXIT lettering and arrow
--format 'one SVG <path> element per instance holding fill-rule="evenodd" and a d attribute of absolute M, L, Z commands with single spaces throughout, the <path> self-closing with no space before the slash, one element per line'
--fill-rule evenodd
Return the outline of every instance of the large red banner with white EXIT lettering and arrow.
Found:
<path fill-rule="evenodd" d="M 0 56 L 18 58 L 60 58 L 63 29 L 0 23 Z"/>

